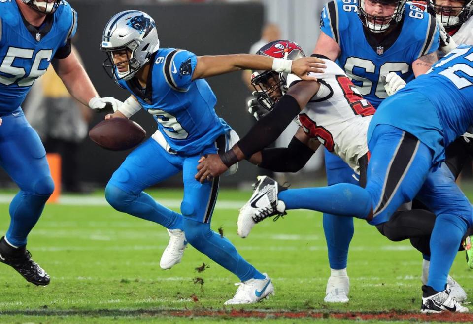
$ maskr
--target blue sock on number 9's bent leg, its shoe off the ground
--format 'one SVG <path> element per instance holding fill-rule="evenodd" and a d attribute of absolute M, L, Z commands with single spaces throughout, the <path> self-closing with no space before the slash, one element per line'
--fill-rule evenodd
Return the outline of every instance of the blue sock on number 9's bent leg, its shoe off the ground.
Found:
<path fill-rule="evenodd" d="M 124 190 L 108 184 L 105 198 L 118 211 L 161 224 L 168 229 L 183 229 L 182 215 L 159 204 L 149 194 L 141 192 L 128 194 Z"/>

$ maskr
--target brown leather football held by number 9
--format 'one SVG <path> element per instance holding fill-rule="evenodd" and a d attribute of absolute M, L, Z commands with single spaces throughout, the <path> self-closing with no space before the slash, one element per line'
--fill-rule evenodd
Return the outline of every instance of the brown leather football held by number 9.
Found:
<path fill-rule="evenodd" d="M 89 137 L 104 149 L 124 151 L 141 143 L 146 137 L 146 131 L 127 118 L 111 118 L 94 126 L 89 131 Z"/>

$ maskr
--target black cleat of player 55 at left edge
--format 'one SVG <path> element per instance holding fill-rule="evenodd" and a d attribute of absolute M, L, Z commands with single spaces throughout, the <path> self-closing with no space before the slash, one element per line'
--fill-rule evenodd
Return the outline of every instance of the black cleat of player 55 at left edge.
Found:
<path fill-rule="evenodd" d="M 49 284 L 49 275 L 31 259 L 31 253 L 26 249 L 26 245 L 14 248 L 5 241 L 4 236 L 0 239 L 0 262 L 11 266 L 32 284 L 37 286 Z"/>

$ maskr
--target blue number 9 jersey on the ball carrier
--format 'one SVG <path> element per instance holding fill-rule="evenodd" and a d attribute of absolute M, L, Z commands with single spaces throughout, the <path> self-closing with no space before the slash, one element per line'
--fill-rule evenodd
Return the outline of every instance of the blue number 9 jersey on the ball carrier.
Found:
<path fill-rule="evenodd" d="M 140 89 L 135 79 L 119 80 L 118 84 L 153 115 L 172 150 L 198 154 L 230 130 L 215 113 L 217 99 L 207 81 L 192 80 L 197 64 L 195 54 L 164 48 L 151 60 L 146 89 Z"/>

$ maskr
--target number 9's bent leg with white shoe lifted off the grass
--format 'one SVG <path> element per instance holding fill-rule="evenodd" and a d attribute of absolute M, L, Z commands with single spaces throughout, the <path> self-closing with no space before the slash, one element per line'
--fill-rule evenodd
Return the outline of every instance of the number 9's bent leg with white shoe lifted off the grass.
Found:
<path fill-rule="evenodd" d="M 176 160 L 176 163 L 170 161 Z M 161 224 L 168 229 L 169 244 L 160 260 L 163 269 L 181 261 L 187 245 L 182 216 L 161 205 L 144 189 L 181 170 L 178 157 L 167 153 L 155 140 L 148 139 L 127 157 L 113 173 L 105 188 L 105 198 L 118 211 Z"/>

